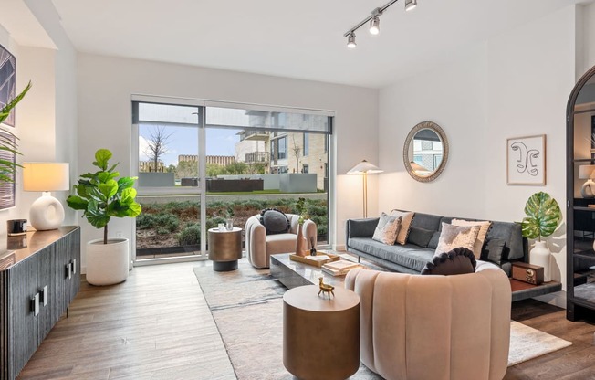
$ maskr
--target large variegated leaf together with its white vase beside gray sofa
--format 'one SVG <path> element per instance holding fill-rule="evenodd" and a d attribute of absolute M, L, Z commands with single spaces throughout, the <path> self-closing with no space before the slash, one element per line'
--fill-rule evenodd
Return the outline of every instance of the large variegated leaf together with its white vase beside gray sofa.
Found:
<path fill-rule="evenodd" d="M 525 216 L 520 222 L 523 237 L 537 238 L 529 252 L 529 262 L 543 267 L 544 281 L 551 280 L 551 253 L 548 242 L 541 237 L 548 237 L 556 231 L 562 220 L 562 211 L 556 199 L 548 193 L 538 192 L 531 195 L 525 205 Z"/>

